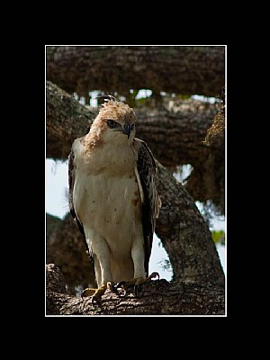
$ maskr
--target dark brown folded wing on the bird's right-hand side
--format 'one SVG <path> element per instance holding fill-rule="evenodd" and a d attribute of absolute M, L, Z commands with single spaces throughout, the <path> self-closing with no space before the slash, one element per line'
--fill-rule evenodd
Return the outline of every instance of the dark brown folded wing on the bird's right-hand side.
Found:
<path fill-rule="evenodd" d="M 155 231 L 156 219 L 158 217 L 161 202 L 157 194 L 157 166 L 155 158 L 144 141 L 135 138 L 134 145 L 138 150 L 137 169 L 143 191 L 141 220 L 145 249 L 144 267 L 148 275 L 148 264 L 151 255 L 153 234 Z"/>

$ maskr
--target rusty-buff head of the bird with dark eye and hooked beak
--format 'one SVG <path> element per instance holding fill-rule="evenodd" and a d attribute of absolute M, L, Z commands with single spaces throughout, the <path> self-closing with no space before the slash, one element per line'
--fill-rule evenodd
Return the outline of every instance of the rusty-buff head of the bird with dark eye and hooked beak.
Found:
<path fill-rule="evenodd" d="M 112 95 L 105 98 L 90 133 L 97 133 L 104 141 L 113 143 L 131 143 L 135 136 L 135 112 L 126 103 L 116 101 Z"/>

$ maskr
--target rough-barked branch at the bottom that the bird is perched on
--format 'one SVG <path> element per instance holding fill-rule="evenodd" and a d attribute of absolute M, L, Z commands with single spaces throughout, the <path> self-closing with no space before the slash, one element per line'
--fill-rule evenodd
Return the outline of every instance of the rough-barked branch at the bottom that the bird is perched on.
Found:
<path fill-rule="evenodd" d="M 225 315 L 224 289 L 190 281 L 150 281 L 124 297 L 106 291 L 101 302 L 67 294 L 57 266 L 46 266 L 47 315 Z"/>

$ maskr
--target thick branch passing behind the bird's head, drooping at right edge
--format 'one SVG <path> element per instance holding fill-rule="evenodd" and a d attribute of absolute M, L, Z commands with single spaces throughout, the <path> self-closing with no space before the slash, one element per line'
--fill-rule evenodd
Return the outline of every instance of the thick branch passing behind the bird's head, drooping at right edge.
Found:
<path fill-rule="evenodd" d="M 50 82 L 46 92 L 47 157 L 66 159 L 73 140 L 85 134 L 95 113 Z M 218 112 L 216 106 L 188 99 L 182 101 L 178 112 L 143 109 L 135 112 L 137 137 L 148 143 L 157 160 L 167 167 L 192 165 L 193 173 L 185 184 L 189 193 L 195 201 L 211 200 L 224 214 L 224 134 L 223 141 L 214 146 L 205 142 Z M 213 144 L 220 134 L 212 134 Z"/>

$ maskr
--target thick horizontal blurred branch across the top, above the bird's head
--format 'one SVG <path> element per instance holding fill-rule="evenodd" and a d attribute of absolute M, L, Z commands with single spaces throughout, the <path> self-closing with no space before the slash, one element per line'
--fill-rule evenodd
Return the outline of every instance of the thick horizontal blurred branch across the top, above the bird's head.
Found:
<path fill-rule="evenodd" d="M 47 79 L 68 93 L 92 90 L 128 94 L 151 89 L 176 94 L 217 96 L 225 83 L 224 46 L 52 47 Z"/>

